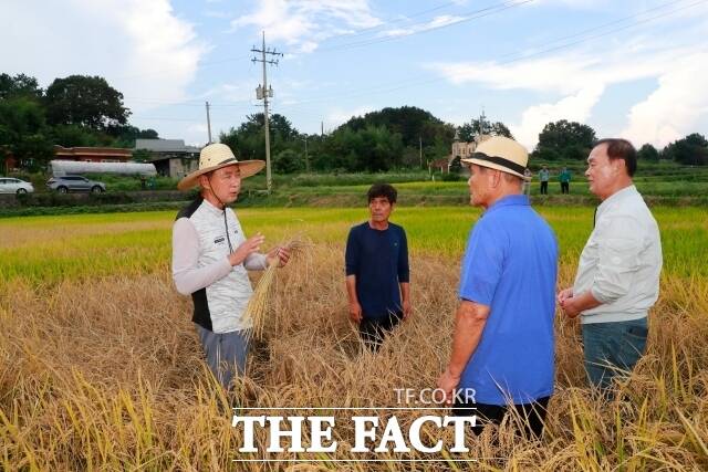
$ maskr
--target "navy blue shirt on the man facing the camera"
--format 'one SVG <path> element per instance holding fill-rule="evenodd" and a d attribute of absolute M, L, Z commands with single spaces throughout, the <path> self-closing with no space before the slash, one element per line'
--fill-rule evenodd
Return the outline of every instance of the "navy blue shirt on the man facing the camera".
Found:
<path fill-rule="evenodd" d="M 381 319 L 402 312 L 400 283 L 409 281 L 408 242 L 402 227 L 373 229 L 368 221 L 350 230 L 346 275 L 356 276 L 356 296 L 363 316 Z"/>

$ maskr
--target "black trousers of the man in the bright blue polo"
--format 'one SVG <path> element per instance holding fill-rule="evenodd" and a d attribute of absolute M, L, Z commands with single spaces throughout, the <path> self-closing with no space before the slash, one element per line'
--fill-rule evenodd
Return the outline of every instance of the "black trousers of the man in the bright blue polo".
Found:
<path fill-rule="evenodd" d="M 523 437 L 527 439 L 539 439 L 543 433 L 543 420 L 545 420 L 546 408 L 551 397 L 539 398 L 532 403 L 514 405 L 519 417 L 521 417 L 521 424 L 523 426 Z M 476 409 L 470 409 L 473 407 Z M 467 408 L 467 409 L 464 409 Z M 500 424 L 508 413 L 507 406 L 487 405 L 464 402 L 460 400 L 455 401 L 452 407 L 452 415 L 457 417 L 470 417 L 477 415 L 476 426 L 472 427 L 475 434 L 481 434 L 485 426 L 489 423 Z"/>

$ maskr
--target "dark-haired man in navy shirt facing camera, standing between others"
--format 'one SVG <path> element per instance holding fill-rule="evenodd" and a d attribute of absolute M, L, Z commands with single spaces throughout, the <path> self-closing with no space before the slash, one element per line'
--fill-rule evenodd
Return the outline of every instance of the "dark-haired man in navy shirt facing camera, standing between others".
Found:
<path fill-rule="evenodd" d="M 368 221 L 346 240 L 346 294 L 350 318 L 364 344 L 377 352 L 402 319 L 410 316 L 408 242 L 405 230 L 388 221 L 397 192 L 388 183 L 368 189 Z"/>

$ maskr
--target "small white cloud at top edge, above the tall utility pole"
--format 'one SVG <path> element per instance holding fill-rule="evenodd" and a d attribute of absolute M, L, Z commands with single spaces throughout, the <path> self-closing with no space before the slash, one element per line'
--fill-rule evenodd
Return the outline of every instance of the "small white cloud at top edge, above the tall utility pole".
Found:
<path fill-rule="evenodd" d="M 257 9 L 231 21 L 232 30 L 254 27 L 270 41 L 284 41 L 295 52 L 309 53 L 327 38 L 381 24 L 367 0 L 262 0 Z M 344 25 L 344 28 L 343 28 Z"/>

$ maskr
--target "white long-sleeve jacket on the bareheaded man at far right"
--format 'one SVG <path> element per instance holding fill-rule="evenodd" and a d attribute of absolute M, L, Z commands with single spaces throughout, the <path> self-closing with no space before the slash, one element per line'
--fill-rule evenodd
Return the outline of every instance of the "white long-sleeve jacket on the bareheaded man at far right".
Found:
<path fill-rule="evenodd" d="M 583 249 L 573 294 L 591 291 L 602 305 L 582 313 L 582 323 L 639 319 L 659 293 L 662 241 L 656 220 L 635 186 L 605 199 Z"/>

